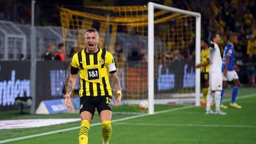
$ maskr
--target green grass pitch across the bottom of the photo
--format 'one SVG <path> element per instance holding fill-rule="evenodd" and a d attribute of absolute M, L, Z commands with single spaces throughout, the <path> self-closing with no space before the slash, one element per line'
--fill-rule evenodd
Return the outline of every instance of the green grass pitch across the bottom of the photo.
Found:
<path fill-rule="evenodd" d="M 227 89 L 226 93 L 231 93 Z M 225 96 L 223 104 L 228 105 L 230 96 Z M 256 143 L 256 89 L 240 88 L 238 104 L 242 109 L 224 109 L 228 115 L 206 115 L 204 106 L 172 105 L 155 107 L 154 115 L 113 115 L 111 144 L 204 144 L 204 143 Z M 213 108 L 214 109 L 214 108 Z M 78 113 L 60 113 L 54 115 L 17 115 L 18 111 L 1 111 L 1 119 L 16 118 L 79 118 Z M 125 119 L 127 118 L 127 119 Z M 89 143 L 102 143 L 100 119 L 95 114 L 89 132 Z M 0 143 L 11 140 L 9 144 L 75 144 L 78 143 L 80 122 L 65 123 L 42 128 L 24 128 L 0 130 Z M 67 128 L 73 128 L 70 131 Z M 33 136 L 40 133 L 48 135 Z M 32 136 L 31 136 L 32 135 Z M 21 140 L 18 140 L 21 138 Z"/>

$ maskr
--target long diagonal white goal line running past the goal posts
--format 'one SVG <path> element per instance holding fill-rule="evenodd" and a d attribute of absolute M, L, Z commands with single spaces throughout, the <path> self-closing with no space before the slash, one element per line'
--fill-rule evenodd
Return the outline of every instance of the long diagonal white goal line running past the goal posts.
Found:
<path fill-rule="evenodd" d="M 246 99 L 246 98 L 250 98 L 252 96 L 256 96 L 256 94 L 248 94 L 248 95 L 245 95 L 245 96 L 240 96 L 237 99 Z M 223 101 L 230 101 L 230 99 L 225 99 Z M 168 109 L 168 110 L 165 110 L 165 111 L 157 111 L 154 114 L 166 113 L 166 112 L 169 112 L 169 111 L 178 111 L 178 110 L 189 109 L 189 108 L 193 108 L 193 107 L 195 107 L 195 106 L 183 106 L 181 108 L 176 108 L 176 109 Z M 125 120 L 129 120 L 129 119 L 133 119 L 133 118 L 139 118 L 139 117 L 143 117 L 143 116 L 150 116 L 150 115 L 148 113 L 145 113 L 145 114 L 138 115 L 138 116 L 129 116 L 127 118 L 119 118 L 119 119 L 116 119 L 116 120 L 112 120 L 112 123 L 115 123 L 115 122 L 118 122 L 118 121 L 125 121 Z M 92 126 L 99 126 L 100 124 L 101 123 L 92 123 L 91 127 Z M 23 136 L 23 137 L 20 137 L 20 138 L 11 138 L 11 139 L 7 139 L 7 140 L 1 140 L 0 143 L 8 143 L 8 142 L 11 142 L 11 141 L 24 140 L 24 139 L 27 139 L 27 138 L 35 138 L 35 137 L 43 136 L 43 135 L 50 135 L 50 134 L 60 133 L 60 132 L 65 132 L 65 131 L 73 131 L 73 130 L 79 129 L 79 128 L 80 128 L 80 126 L 77 126 L 77 127 L 73 127 L 73 128 L 65 128 L 65 129 L 58 130 L 58 131 L 50 131 L 50 132 L 46 132 L 46 133 L 38 133 L 36 135 Z"/>

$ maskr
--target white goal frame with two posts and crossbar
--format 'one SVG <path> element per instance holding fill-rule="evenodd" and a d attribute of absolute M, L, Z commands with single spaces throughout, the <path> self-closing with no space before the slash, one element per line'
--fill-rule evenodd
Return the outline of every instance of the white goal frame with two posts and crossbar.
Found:
<path fill-rule="evenodd" d="M 175 13 L 186 14 L 196 17 L 196 63 L 200 63 L 201 41 L 201 13 L 176 9 L 161 4 L 149 2 L 148 4 L 148 101 L 149 114 L 154 114 L 154 9 L 163 9 Z M 196 65 L 196 64 L 195 64 Z M 200 105 L 200 69 L 196 69 L 196 106 Z"/>

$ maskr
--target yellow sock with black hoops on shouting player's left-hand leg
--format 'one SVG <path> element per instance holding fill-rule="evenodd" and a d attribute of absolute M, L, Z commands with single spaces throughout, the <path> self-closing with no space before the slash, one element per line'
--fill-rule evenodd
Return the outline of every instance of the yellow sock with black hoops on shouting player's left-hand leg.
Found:
<path fill-rule="evenodd" d="M 81 122 L 81 128 L 79 132 L 79 144 L 88 143 L 88 133 L 90 129 L 90 123 L 87 120 Z"/>

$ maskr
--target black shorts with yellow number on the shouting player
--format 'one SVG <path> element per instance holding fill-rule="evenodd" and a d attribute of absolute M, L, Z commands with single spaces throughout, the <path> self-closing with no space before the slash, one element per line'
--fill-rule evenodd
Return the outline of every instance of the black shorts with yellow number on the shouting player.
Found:
<path fill-rule="evenodd" d="M 89 111 L 92 116 L 97 108 L 98 113 L 103 110 L 111 111 L 111 96 L 82 96 L 80 97 L 80 113 Z"/>

